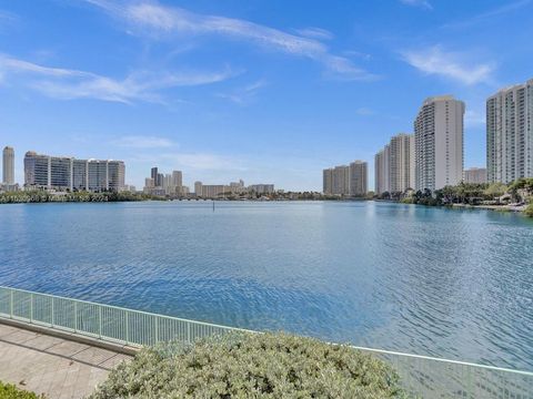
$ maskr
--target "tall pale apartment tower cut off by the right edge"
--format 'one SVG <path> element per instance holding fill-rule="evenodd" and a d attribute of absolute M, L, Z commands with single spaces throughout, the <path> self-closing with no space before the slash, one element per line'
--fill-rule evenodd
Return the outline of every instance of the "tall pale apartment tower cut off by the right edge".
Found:
<path fill-rule="evenodd" d="M 486 100 L 487 181 L 533 177 L 533 79 Z"/>

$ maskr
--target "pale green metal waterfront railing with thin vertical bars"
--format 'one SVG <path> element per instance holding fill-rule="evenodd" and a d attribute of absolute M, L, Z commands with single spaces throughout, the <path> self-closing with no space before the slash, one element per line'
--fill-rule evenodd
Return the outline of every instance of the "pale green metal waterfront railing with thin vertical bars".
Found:
<path fill-rule="evenodd" d="M 0 286 L 0 318 L 142 347 L 230 331 L 255 332 Z M 390 364 L 405 390 L 423 398 L 533 399 L 533 372 L 354 347 Z"/>

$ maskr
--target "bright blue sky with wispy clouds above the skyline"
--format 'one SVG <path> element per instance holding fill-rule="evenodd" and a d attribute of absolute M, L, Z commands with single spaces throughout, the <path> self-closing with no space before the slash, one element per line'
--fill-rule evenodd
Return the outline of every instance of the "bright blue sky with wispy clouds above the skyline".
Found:
<path fill-rule="evenodd" d="M 533 0 L 2 0 L 0 145 L 195 180 L 321 190 L 322 168 L 411 132 L 426 96 L 533 78 Z"/>

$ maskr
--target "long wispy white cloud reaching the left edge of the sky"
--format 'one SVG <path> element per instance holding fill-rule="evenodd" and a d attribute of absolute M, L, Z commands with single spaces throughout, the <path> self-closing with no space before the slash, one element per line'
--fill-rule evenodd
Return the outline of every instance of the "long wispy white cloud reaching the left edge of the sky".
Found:
<path fill-rule="evenodd" d="M 30 88 L 53 99 L 97 99 L 131 103 L 163 102 L 160 92 L 165 89 L 215 83 L 235 73 L 229 68 L 219 72 L 138 71 L 120 80 L 80 70 L 43 66 L 0 54 L 0 75 L 6 78 L 7 74 L 29 76 L 24 82 Z"/>

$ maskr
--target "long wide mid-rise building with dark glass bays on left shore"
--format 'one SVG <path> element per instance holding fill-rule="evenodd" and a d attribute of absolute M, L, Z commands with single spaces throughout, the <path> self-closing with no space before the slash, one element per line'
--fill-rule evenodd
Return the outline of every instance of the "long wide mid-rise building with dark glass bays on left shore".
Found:
<path fill-rule="evenodd" d="M 70 191 L 122 191 L 125 166 L 122 161 L 77 160 L 37 154 L 24 156 L 27 187 Z"/>

